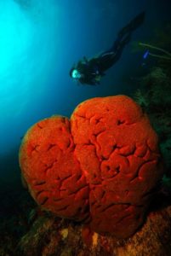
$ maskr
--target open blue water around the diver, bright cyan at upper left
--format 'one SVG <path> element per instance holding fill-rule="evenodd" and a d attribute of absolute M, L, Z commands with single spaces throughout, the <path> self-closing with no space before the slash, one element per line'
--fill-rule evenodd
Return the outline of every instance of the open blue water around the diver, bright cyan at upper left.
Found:
<path fill-rule="evenodd" d="M 132 41 L 145 41 L 170 16 L 160 0 L 1 0 L 0 1 L 0 178 L 18 178 L 20 137 L 54 113 L 70 116 L 94 96 L 130 94 L 125 76 L 141 68 L 143 55 L 131 44 L 98 86 L 73 82 L 69 71 L 83 55 L 111 47 L 117 32 L 142 10 L 145 23 Z M 13 176 L 11 176 L 13 174 Z"/>

